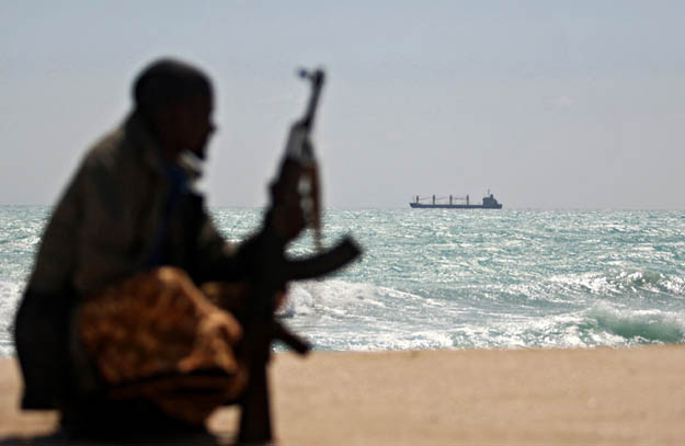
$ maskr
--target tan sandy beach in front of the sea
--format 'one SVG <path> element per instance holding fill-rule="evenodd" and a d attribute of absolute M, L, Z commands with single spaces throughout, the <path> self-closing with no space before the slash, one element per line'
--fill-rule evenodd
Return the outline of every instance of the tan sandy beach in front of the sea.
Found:
<path fill-rule="evenodd" d="M 281 445 L 676 445 L 685 346 L 275 355 Z M 50 444 L 54 412 L 21 412 L 0 361 L 0 444 Z M 217 411 L 220 443 L 238 411 Z"/>

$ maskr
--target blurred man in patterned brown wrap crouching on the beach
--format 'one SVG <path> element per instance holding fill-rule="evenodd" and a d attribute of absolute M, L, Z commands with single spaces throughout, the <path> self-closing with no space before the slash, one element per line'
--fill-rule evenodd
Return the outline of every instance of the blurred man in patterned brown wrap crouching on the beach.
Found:
<path fill-rule="evenodd" d="M 244 293 L 212 302 L 198 286 L 244 279 L 264 245 L 254 240 L 283 247 L 305 221 L 292 198 L 239 248 L 214 227 L 193 187 L 215 129 L 202 71 L 156 61 L 134 102 L 87 153 L 45 229 L 15 321 L 22 408 L 57 408 L 77 426 L 198 425 L 244 384 L 233 354 L 241 327 L 225 310 L 246 305 Z"/>

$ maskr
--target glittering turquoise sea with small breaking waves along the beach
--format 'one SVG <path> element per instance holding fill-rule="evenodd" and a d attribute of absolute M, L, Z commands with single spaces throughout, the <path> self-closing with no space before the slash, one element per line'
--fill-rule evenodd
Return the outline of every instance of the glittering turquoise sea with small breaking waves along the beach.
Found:
<path fill-rule="evenodd" d="M 0 206 L 0 356 L 50 208 Z M 232 241 L 262 210 L 215 208 Z M 685 211 L 327 209 L 364 249 L 290 285 L 279 317 L 319 351 L 685 342 Z M 292 255 L 313 252 L 306 233 Z"/>

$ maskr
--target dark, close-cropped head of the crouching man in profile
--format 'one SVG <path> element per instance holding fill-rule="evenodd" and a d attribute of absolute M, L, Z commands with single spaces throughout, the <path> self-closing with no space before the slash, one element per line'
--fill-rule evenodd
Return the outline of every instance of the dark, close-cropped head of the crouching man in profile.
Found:
<path fill-rule="evenodd" d="M 191 150 L 205 158 L 215 126 L 212 82 L 204 72 L 179 60 L 161 59 L 142 70 L 133 93 L 138 113 L 168 156 Z"/>

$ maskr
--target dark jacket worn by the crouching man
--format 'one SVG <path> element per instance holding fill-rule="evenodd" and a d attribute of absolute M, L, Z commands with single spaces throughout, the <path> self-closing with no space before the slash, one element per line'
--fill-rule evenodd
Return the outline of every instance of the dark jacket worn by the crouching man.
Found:
<path fill-rule="evenodd" d="M 173 181 L 169 170 L 185 175 Z M 15 320 L 24 409 L 69 398 L 75 369 L 70 319 L 82 296 L 158 264 L 196 283 L 244 276 L 193 191 L 196 172 L 164 162 L 133 113 L 84 157 L 47 224 Z"/>

